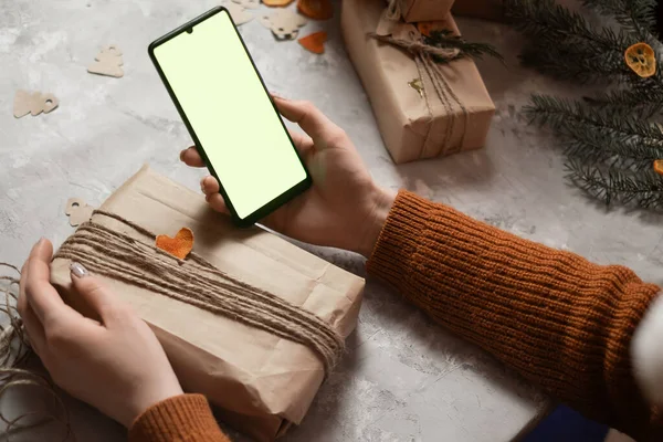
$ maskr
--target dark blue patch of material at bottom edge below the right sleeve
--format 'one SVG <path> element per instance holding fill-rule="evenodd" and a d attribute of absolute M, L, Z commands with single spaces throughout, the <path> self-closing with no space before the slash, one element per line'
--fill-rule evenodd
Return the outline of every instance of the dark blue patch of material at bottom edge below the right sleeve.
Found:
<path fill-rule="evenodd" d="M 523 442 L 603 442 L 608 425 L 588 419 L 568 407 L 557 407 Z"/>

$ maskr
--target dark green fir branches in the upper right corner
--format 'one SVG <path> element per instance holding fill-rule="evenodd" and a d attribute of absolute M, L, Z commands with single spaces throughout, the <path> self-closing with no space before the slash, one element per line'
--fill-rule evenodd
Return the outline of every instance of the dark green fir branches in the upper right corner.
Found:
<path fill-rule="evenodd" d="M 582 0 L 621 29 L 591 27 L 554 0 L 504 0 L 507 17 L 529 39 L 525 64 L 575 82 L 607 81 L 621 87 L 569 101 L 533 95 L 523 109 L 530 124 L 549 127 L 567 157 L 568 179 L 607 204 L 663 209 L 663 127 L 648 122 L 663 112 L 663 75 L 642 78 L 624 51 L 644 41 L 654 49 L 655 0 Z"/>

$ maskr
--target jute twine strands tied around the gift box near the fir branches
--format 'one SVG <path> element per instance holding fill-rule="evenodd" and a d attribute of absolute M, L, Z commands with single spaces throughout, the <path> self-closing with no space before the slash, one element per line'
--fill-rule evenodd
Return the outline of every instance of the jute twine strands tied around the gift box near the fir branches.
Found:
<path fill-rule="evenodd" d="M 400 11 L 401 10 L 399 7 L 399 1 L 392 0 L 389 3 L 386 18 L 389 20 L 399 21 L 401 19 Z M 430 78 L 431 84 L 433 85 L 433 91 L 435 94 L 434 96 L 442 103 L 442 105 L 444 106 L 445 115 L 449 115 L 449 117 L 450 117 L 450 123 L 446 125 L 446 128 L 444 131 L 444 140 L 440 144 L 440 147 L 436 149 L 435 154 L 432 156 L 438 156 L 438 155 L 442 154 L 444 151 L 444 148 L 446 146 L 449 146 L 452 135 L 453 135 L 453 128 L 455 126 L 455 114 L 453 112 L 452 101 L 453 101 L 453 103 L 455 103 L 459 106 L 459 108 L 461 109 L 461 112 L 463 113 L 463 116 L 465 118 L 465 122 L 464 122 L 465 127 L 463 130 L 461 143 L 459 144 L 459 146 L 454 150 L 454 152 L 460 151 L 463 148 L 463 145 L 465 144 L 465 134 L 467 131 L 467 123 L 469 123 L 469 118 L 470 118 L 470 113 L 467 112 L 467 108 L 465 107 L 463 102 L 453 92 L 453 90 L 451 88 L 451 85 L 444 77 L 444 73 L 442 72 L 442 66 L 440 65 L 440 63 L 438 63 L 438 62 L 435 62 L 435 60 L 433 60 L 433 57 L 438 57 L 438 59 L 446 60 L 446 61 L 454 60 L 457 57 L 460 50 L 456 48 L 431 46 L 430 44 L 425 44 L 422 41 L 397 39 L 391 35 L 379 35 L 375 32 L 370 32 L 368 34 L 368 36 L 376 39 L 380 42 L 389 43 L 393 46 L 400 48 L 400 49 L 404 50 L 406 52 L 410 53 L 414 57 L 414 63 L 417 63 L 417 71 L 419 74 L 419 81 L 421 82 L 421 85 L 422 85 L 422 93 L 423 93 L 423 97 L 425 99 L 425 105 L 427 105 L 427 108 L 429 112 L 429 120 L 432 122 L 433 120 L 433 110 L 432 110 L 429 93 L 428 93 L 427 88 L 424 87 L 424 84 L 425 84 L 423 81 L 424 74 Z M 433 125 L 429 124 L 423 145 L 421 146 L 421 151 L 419 152 L 419 158 L 421 158 L 423 156 L 423 152 L 424 152 L 427 146 L 429 145 L 429 139 L 432 134 L 432 127 L 433 127 Z"/>

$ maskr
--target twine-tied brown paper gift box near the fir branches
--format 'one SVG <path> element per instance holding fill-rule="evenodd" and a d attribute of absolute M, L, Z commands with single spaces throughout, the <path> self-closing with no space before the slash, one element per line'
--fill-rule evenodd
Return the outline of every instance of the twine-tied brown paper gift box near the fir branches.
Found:
<path fill-rule="evenodd" d="M 425 43 L 399 18 L 398 0 L 346 0 L 341 31 L 394 162 L 485 144 L 495 106 L 471 59 Z M 460 32 L 451 15 L 441 23 Z M 439 63 L 440 61 L 446 61 Z"/>

